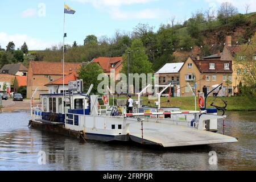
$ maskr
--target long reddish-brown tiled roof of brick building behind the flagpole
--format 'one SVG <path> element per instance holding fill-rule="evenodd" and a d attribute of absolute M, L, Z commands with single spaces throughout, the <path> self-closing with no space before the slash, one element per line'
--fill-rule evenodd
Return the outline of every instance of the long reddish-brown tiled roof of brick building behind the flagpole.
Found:
<path fill-rule="evenodd" d="M 82 63 L 65 63 L 64 74 L 77 72 Z M 30 66 L 34 75 L 63 75 L 62 62 L 31 61 Z"/>

